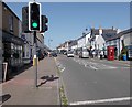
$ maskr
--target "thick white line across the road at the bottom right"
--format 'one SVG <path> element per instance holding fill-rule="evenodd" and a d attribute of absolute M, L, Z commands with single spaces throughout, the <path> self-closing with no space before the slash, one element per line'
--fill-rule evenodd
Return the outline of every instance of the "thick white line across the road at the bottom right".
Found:
<path fill-rule="evenodd" d="M 89 105 L 89 104 L 99 104 L 99 103 L 116 103 L 116 101 L 129 101 L 132 97 L 122 97 L 122 98 L 110 98 L 110 99 L 99 99 L 99 100 L 86 100 L 86 101 L 75 101 L 69 105 Z"/>

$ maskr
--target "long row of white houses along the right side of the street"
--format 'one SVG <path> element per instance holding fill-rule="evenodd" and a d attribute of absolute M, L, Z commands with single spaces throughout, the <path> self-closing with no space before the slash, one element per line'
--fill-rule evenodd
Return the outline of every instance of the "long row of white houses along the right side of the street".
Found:
<path fill-rule="evenodd" d="M 80 53 L 82 49 L 89 51 L 89 55 L 99 57 L 100 54 L 103 57 L 108 55 L 108 46 L 114 49 L 114 58 L 122 60 L 122 55 L 127 54 L 127 60 L 132 58 L 132 42 L 131 42 L 132 29 L 119 30 L 116 28 L 110 29 L 95 29 L 91 28 L 78 39 L 66 41 L 57 46 L 58 52 L 74 51 L 76 55 Z"/>

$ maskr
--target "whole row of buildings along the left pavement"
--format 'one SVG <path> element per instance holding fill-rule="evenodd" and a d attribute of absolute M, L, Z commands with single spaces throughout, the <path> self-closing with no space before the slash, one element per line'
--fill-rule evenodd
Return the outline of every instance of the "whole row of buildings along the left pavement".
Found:
<path fill-rule="evenodd" d="M 31 63 L 33 47 L 33 33 L 22 32 L 20 18 L 4 2 L 0 2 L 0 71 L 4 62 L 10 72 L 16 72 L 24 64 Z M 43 49 L 44 35 L 37 33 L 37 54 Z"/>

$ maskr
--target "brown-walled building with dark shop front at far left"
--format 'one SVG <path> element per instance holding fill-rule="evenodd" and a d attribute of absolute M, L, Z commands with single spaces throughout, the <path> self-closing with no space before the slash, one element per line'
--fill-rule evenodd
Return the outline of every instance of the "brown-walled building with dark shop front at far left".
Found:
<path fill-rule="evenodd" d="M 12 71 L 23 65 L 22 61 L 22 45 L 23 40 L 20 38 L 21 21 L 12 12 L 12 10 L 4 3 L 0 2 L 2 8 L 2 50 L 3 62 L 8 62 Z"/>

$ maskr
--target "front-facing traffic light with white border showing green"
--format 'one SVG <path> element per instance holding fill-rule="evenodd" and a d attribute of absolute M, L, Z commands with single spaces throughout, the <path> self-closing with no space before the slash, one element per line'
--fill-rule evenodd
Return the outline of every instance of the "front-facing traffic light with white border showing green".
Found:
<path fill-rule="evenodd" d="M 29 2 L 29 30 L 41 31 L 41 3 Z"/>

